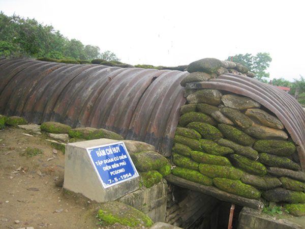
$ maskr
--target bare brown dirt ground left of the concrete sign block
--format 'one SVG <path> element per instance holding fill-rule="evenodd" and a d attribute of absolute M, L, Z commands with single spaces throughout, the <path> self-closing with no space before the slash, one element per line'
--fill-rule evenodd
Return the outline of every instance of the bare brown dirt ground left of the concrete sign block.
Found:
<path fill-rule="evenodd" d="M 0 228 L 101 227 L 96 224 L 96 203 L 56 186 L 64 175 L 63 152 L 46 135 L 26 132 L 8 127 L 0 131 Z M 27 148 L 43 153 L 28 155 Z"/>

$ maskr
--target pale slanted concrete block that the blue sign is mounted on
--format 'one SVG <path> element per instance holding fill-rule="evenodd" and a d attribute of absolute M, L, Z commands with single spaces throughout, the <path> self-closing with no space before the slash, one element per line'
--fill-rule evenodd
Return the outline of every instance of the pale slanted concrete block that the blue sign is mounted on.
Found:
<path fill-rule="evenodd" d="M 104 189 L 95 168 L 90 161 L 86 148 L 119 142 L 112 139 L 95 139 L 68 144 L 65 153 L 64 188 L 81 193 L 97 202 L 114 201 L 139 189 L 139 179 L 119 183 Z"/>

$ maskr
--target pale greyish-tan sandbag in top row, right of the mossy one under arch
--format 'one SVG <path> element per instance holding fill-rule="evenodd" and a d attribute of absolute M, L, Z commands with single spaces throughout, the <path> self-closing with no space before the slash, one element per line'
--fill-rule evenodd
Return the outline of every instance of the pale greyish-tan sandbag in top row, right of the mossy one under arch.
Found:
<path fill-rule="evenodd" d="M 237 110 L 249 109 L 249 108 L 259 108 L 260 104 L 255 102 L 253 99 L 248 97 L 241 97 L 232 94 L 224 95 L 221 100 L 227 107 L 231 107 Z"/>

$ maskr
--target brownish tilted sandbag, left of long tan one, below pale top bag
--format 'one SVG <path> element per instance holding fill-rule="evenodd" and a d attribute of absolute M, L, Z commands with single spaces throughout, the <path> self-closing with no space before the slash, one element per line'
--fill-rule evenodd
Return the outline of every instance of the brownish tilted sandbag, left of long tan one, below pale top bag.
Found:
<path fill-rule="evenodd" d="M 230 108 L 230 107 L 223 107 L 220 111 L 228 117 L 236 126 L 245 129 L 251 127 L 253 121 L 249 119 L 247 116 L 243 115 L 239 110 Z"/>

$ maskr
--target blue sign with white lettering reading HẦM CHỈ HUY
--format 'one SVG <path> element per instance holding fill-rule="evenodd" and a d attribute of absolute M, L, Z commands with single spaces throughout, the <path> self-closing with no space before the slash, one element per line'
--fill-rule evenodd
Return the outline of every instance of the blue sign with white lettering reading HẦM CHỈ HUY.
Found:
<path fill-rule="evenodd" d="M 86 148 L 104 188 L 139 177 L 124 142 Z"/>

